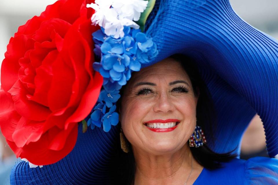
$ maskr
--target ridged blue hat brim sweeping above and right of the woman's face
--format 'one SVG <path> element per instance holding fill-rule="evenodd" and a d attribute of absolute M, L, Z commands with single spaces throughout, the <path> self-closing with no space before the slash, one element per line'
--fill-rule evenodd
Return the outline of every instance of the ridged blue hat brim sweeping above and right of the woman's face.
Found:
<path fill-rule="evenodd" d="M 159 51 L 151 64 L 175 53 L 196 59 L 218 115 L 214 151 L 239 146 L 257 112 L 268 154 L 278 154 L 277 40 L 242 20 L 228 0 L 156 0 L 146 34 Z"/>

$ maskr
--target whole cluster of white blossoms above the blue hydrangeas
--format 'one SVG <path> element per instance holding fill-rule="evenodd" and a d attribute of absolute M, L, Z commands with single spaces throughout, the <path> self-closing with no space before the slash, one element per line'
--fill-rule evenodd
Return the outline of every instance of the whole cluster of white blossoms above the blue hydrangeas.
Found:
<path fill-rule="evenodd" d="M 87 8 L 93 8 L 92 23 L 104 28 L 108 36 L 119 38 L 124 36 L 124 26 L 139 29 L 134 21 L 140 19 L 140 15 L 147 8 L 146 0 L 96 0 L 87 4 Z"/>

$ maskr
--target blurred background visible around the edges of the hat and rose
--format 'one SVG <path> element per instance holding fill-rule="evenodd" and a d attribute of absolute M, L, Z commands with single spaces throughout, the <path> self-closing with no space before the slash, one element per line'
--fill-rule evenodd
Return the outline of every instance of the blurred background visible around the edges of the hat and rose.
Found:
<path fill-rule="evenodd" d="M 49 4 L 56 0 L 1 0 L 0 6 L 0 65 L 4 59 L 7 44 L 20 25 L 39 16 Z M 235 12 L 250 25 L 278 39 L 277 0 L 230 0 Z M 242 156 L 267 156 L 264 129 L 259 116 L 251 121 L 242 139 Z M 278 156 L 276 156 L 278 158 Z M 9 184 L 8 177 L 16 158 L 0 133 L 0 185 Z"/>

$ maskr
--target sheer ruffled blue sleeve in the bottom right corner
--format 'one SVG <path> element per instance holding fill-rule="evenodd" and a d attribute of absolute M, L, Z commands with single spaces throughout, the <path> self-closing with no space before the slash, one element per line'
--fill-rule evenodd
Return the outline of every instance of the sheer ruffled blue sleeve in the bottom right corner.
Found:
<path fill-rule="evenodd" d="M 278 159 L 266 157 L 250 158 L 245 163 L 245 173 L 249 184 L 278 184 Z"/>

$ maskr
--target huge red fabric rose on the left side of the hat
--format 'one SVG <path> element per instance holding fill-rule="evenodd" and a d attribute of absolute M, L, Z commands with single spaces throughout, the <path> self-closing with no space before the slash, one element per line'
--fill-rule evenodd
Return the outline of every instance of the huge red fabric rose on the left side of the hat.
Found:
<path fill-rule="evenodd" d="M 103 78 L 94 62 L 93 1 L 60 0 L 11 38 L 1 66 L 0 126 L 17 157 L 47 165 L 65 157 Z"/>

